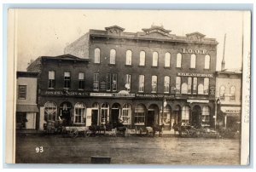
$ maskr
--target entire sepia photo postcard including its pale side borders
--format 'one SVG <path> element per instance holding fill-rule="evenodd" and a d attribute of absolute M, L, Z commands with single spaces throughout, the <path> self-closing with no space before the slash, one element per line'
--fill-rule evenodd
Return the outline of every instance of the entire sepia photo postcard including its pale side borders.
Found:
<path fill-rule="evenodd" d="M 250 163 L 250 11 L 9 9 L 8 25 L 7 163 Z"/>

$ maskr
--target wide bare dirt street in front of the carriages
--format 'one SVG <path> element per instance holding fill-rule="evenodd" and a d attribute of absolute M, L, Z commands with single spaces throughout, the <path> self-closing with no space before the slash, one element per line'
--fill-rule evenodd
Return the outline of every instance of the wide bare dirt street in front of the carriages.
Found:
<path fill-rule="evenodd" d="M 125 164 L 231 165 L 240 163 L 240 143 L 235 139 L 139 136 L 29 135 L 16 140 L 16 163 L 90 163 L 91 156 Z"/>

